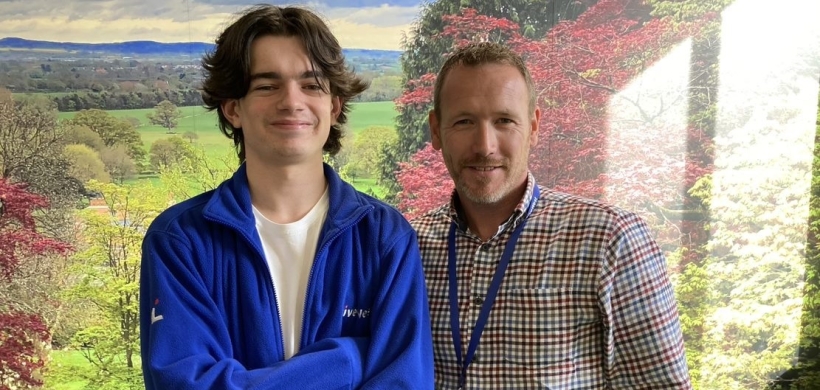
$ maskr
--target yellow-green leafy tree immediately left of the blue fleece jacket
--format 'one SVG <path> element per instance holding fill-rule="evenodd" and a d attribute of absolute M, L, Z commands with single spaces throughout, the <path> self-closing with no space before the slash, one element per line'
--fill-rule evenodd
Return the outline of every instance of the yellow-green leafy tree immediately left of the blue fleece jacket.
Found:
<path fill-rule="evenodd" d="M 162 188 L 141 181 L 134 185 L 91 182 L 103 212 L 82 212 L 84 248 L 75 255 L 73 275 L 79 281 L 70 296 L 90 302 L 98 316 L 74 336 L 74 344 L 97 370 L 89 378 L 102 387 L 117 382 L 140 388 L 135 363 L 139 351 L 139 271 L 145 230 L 169 201 Z"/>

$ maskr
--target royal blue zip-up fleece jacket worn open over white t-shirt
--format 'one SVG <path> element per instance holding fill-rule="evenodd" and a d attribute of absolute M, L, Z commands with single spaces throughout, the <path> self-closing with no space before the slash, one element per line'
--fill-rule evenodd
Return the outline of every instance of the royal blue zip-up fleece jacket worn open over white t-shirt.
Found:
<path fill-rule="evenodd" d="M 284 359 L 245 166 L 172 206 L 145 235 L 147 389 L 432 389 L 415 233 L 325 166 L 330 208 L 308 280 L 300 351 Z"/>

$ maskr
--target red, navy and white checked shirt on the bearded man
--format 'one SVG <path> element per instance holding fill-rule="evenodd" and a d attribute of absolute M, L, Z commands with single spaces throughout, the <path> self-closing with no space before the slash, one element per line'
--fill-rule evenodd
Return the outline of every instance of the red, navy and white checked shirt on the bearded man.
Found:
<path fill-rule="evenodd" d="M 450 204 L 412 221 L 427 279 L 436 388 L 460 373 L 448 298 L 447 236 L 456 233 L 462 356 L 501 253 L 535 180 L 487 242 Z M 635 214 L 539 187 L 475 358 L 469 389 L 691 389 L 666 261 Z"/>

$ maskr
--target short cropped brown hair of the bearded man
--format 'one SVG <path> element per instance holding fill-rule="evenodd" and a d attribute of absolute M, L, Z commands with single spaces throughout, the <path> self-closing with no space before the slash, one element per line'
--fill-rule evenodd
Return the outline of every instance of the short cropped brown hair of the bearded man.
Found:
<path fill-rule="evenodd" d="M 447 75 L 456 66 L 477 67 L 486 64 L 501 64 L 511 65 L 518 69 L 521 76 L 524 77 L 524 82 L 527 84 L 527 92 L 529 93 L 529 109 L 530 113 L 535 111 L 535 83 L 532 81 L 530 71 L 524 60 L 510 50 L 507 46 L 494 42 L 477 42 L 470 43 L 459 49 L 456 49 L 450 57 L 441 66 L 436 76 L 436 84 L 433 89 L 433 113 L 436 118 L 441 119 L 441 88 L 444 86 L 444 81 Z"/>

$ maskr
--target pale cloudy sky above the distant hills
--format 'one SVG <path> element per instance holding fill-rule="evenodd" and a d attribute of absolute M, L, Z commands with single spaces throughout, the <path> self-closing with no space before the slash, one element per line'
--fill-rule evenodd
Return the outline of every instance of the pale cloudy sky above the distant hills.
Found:
<path fill-rule="evenodd" d="M 213 42 L 262 0 L 0 0 L 0 38 L 108 43 Z M 345 48 L 401 50 L 421 0 L 267 1 L 321 15 Z"/>

